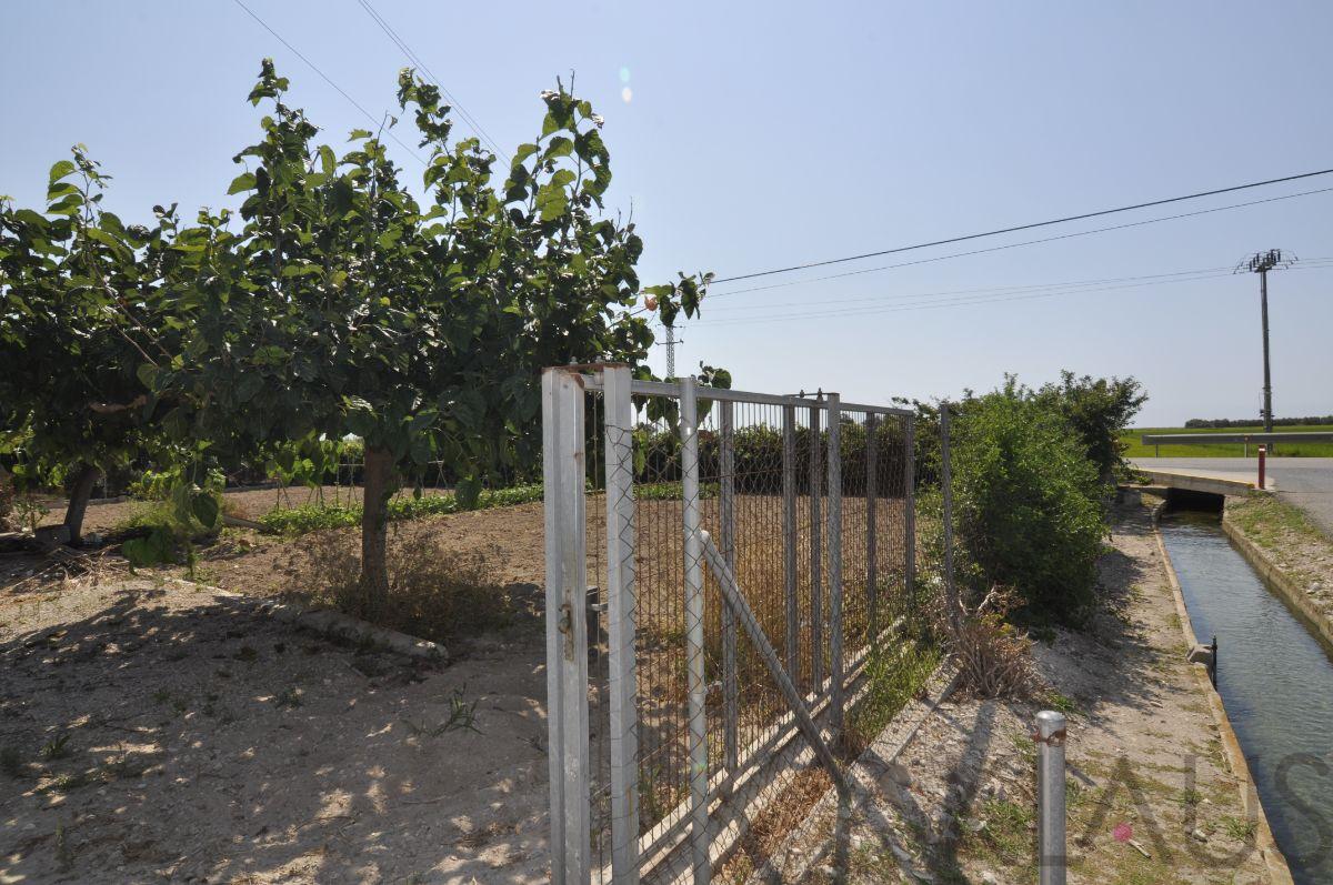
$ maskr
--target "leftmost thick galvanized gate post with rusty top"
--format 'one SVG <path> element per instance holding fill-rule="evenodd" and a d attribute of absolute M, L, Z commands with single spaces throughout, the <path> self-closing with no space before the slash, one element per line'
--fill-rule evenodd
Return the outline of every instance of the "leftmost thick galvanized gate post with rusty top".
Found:
<path fill-rule="evenodd" d="M 592 878 L 584 391 L 575 373 L 551 368 L 543 372 L 541 395 L 551 878 L 584 885 Z"/>

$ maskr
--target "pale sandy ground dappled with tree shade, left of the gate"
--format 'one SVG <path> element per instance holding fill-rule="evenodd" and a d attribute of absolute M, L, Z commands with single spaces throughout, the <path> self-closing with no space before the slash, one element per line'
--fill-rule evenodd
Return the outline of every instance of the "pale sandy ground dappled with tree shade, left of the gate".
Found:
<path fill-rule="evenodd" d="M 547 878 L 535 624 L 423 669 L 175 581 L 0 613 L 0 882 Z"/>

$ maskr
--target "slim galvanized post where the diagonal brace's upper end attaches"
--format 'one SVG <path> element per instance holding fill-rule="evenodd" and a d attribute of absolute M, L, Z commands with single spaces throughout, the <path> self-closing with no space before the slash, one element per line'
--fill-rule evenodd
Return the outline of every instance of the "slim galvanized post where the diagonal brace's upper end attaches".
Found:
<path fill-rule="evenodd" d="M 696 885 L 706 885 L 708 685 L 704 674 L 704 546 L 698 509 L 698 405 L 693 376 L 680 381 L 681 496 L 685 532 L 685 649 L 689 676 L 690 849 Z"/>

